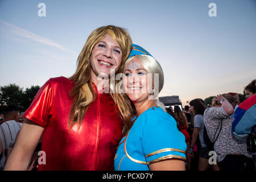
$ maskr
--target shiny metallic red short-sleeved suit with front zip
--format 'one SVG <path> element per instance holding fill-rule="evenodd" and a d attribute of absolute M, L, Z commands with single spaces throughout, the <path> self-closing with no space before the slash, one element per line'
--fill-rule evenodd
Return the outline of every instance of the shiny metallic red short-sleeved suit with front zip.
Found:
<path fill-rule="evenodd" d="M 80 128 L 68 132 L 74 84 L 65 77 L 49 79 L 40 88 L 24 117 L 44 127 L 42 151 L 46 164 L 38 170 L 112 170 L 122 135 L 122 121 L 112 97 L 98 93 Z"/>

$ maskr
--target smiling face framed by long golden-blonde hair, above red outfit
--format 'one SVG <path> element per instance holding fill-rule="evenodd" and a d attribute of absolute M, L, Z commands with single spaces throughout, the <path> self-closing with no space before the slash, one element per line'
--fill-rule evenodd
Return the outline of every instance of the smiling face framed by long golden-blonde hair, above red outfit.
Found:
<path fill-rule="evenodd" d="M 119 69 L 122 60 L 122 50 L 116 40 L 109 34 L 101 38 L 93 47 L 90 56 L 92 67 L 91 78 L 97 82 L 98 76 L 109 76 L 110 69 Z"/>

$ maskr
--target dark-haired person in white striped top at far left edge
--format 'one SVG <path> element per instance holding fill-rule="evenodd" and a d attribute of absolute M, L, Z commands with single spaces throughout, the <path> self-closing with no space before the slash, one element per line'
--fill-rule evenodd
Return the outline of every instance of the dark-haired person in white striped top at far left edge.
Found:
<path fill-rule="evenodd" d="M 0 171 L 3 170 L 7 158 L 7 150 L 15 142 L 18 131 L 22 127 L 19 123 L 19 108 L 7 106 L 3 111 L 4 121 L 0 125 Z"/>

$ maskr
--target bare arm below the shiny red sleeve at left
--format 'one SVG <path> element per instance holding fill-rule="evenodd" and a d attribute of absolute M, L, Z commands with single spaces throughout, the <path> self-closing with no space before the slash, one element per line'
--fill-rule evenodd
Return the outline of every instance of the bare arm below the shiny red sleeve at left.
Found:
<path fill-rule="evenodd" d="M 4 170 L 27 170 L 43 131 L 42 126 L 25 118 Z"/>

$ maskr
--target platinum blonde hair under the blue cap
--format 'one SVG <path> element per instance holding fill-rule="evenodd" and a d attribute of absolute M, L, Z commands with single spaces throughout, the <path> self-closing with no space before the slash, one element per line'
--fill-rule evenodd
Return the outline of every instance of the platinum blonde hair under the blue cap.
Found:
<path fill-rule="evenodd" d="M 155 73 L 158 73 L 158 78 L 159 78 L 159 80 L 158 80 L 158 86 L 159 86 L 158 90 L 159 91 L 158 92 L 160 92 L 162 90 L 163 84 L 164 84 L 164 75 L 163 75 L 163 69 L 162 69 L 161 65 L 152 56 L 135 55 L 126 60 L 125 68 L 126 68 L 126 65 L 129 63 L 129 61 L 134 59 L 134 57 L 137 57 L 137 59 L 139 59 L 141 61 L 141 64 L 146 69 L 147 73 L 152 74 L 152 84 L 154 86 L 154 92 L 155 92 Z"/>

